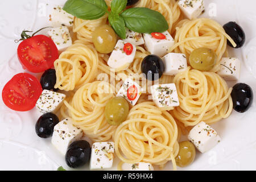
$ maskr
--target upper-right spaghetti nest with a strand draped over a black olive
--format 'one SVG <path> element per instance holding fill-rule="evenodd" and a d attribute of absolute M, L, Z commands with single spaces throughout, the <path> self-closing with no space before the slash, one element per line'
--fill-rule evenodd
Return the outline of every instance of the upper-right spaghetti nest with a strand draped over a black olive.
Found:
<path fill-rule="evenodd" d="M 170 52 L 185 53 L 189 57 L 197 48 L 212 49 L 217 54 L 217 64 L 212 72 L 217 72 L 221 57 L 226 51 L 227 39 L 236 47 L 236 43 L 216 21 L 208 18 L 184 19 L 177 24 L 175 45 Z"/>

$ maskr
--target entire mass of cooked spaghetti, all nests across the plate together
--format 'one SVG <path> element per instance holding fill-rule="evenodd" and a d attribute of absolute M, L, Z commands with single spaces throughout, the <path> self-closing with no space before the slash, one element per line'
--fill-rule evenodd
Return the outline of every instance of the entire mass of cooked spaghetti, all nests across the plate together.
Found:
<path fill-rule="evenodd" d="M 109 7 L 110 2 L 106 1 Z M 173 82 L 176 85 L 180 106 L 165 111 L 156 107 L 148 99 L 150 93 L 146 92 L 137 105 L 130 106 L 125 122 L 111 126 L 105 119 L 106 103 L 117 94 L 127 77 L 142 81 L 141 63 L 150 52 L 144 46 L 137 46 L 129 68 L 113 72 L 107 64 L 109 54 L 98 53 L 92 40 L 94 30 L 108 24 L 108 14 L 96 20 L 75 18 L 73 32 L 78 40 L 55 61 L 55 88 L 70 94 L 60 114 L 63 118 L 71 117 L 73 124 L 93 141 L 113 140 L 115 154 L 121 160 L 119 169 L 122 163 L 148 162 L 164 167 L 170 161 L 176 169 L 175 157 L 181 134 L 200 121 L 213 123 L 227 118 L 232 111 L 232 89 L 214 72 L 218 71 L 221 57 L 226 52 L 227 40 L 234 46 L 235 43 L 214 20 L 183 19 L 175 0 L 141 0 L 135 7 L 148 7 L 163 14 L 169 24 L 168 31 L 175 38 L 175 45 L 169 52 L 185 53 L 188 58 L 196 48 L 213 49 L 217 64 L 212 72 L 188 67 L 176 76 L 163 75 L 159 84 Z M 102 89 L 111 92 L 101 92 Z"/>

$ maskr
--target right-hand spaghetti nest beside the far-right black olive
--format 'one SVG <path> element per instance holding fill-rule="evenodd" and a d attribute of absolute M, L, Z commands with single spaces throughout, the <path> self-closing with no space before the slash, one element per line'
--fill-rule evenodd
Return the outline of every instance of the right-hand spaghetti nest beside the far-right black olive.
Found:
<path fill-rule="evenodd" d="M 174 83 L 180 106 L 170 113 L 184 126 L 195 126 L 200 121 L 217 122 L 231 114 L 232 88 L 216 73 L 188 68 L 175 76 Z"/>

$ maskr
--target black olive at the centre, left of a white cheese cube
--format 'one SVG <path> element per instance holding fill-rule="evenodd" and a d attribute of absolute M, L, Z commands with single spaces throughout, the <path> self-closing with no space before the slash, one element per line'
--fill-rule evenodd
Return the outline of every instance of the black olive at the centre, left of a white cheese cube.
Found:
<path fill-rule="evenodd" d="M 164 72 L 163 60 L 159 56 L 148 55 L 142 61 L 141 71 L 148 80 L 158 80 Z"/>

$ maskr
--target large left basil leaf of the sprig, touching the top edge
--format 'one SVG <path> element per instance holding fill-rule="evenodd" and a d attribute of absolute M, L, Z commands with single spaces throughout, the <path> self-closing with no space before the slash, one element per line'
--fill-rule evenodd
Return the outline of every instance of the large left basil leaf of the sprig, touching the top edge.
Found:
<path fill-rule="evenodd" d="M 108 11 L 108 6 L 104 0 L 68 0 L 64 11 L 81 19 L 98 19 Z"/>

